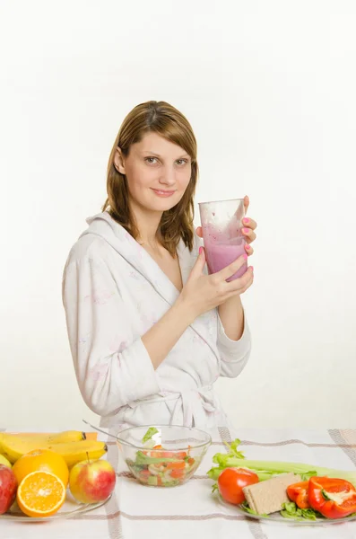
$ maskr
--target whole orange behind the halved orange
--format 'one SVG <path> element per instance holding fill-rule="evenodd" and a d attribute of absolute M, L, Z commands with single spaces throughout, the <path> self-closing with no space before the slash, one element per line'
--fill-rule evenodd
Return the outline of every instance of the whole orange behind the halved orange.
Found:
<path fill-rule="evenodd" d="M 66 485 L 68 484 L 69 471 L 63 456 L 49 449 L 35 449 L 22 455 L 13 464 L 13 473 L 18 484 L 32 472 L 54 473 Z"/>

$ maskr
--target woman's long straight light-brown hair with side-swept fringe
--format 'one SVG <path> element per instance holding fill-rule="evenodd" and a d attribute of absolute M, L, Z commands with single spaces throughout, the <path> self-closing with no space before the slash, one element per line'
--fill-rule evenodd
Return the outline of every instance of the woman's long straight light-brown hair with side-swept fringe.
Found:
<path fill-rule="evenodd" d="M 183 148 L 190 155 L 192 173 L 187 190 L 176 206 L 163 212 L 159 230 L 162 245 L 172 255 L 176 253 L 180 238 L 191 251 L 194 238 L 194 195 L 198 176 L 196 140 L 187 118 L 167 102 L 141 103 L 131 110 L 124 119 L 109 156 L 108 199 L 106 199 L 102 211 L 108 211 L 119 225 L 126 228 L 126 231 L 135 239 L 138 238 L 139 231 L 129 208 L 126 175 L 117 171 L 114 157 L 117 147 L 121 149 L 123 155 L 128 155 L 130 146 L 140 142 L 143 136 L 149 132 L 161 135 L 161 137 Z"/>

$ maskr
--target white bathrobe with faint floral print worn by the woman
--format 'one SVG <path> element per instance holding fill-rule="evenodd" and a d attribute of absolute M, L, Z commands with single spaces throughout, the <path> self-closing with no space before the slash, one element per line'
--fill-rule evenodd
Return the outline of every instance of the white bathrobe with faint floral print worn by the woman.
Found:
<path fill-rule="evenodd" d="M 82 398 L 101 416 L 100 425 L 229 425 L 213 383 L 245 367 L 247 321 L 234 341 L 217 309 L 199 316 L 155 370 L 141 337 L 175 303 L 178 289 L 108 212 L 87 223 L 66 261 L 63 302 Z M 193 252 L 178 244 L 183 283 L 199 243 L 195 236 Z"/>

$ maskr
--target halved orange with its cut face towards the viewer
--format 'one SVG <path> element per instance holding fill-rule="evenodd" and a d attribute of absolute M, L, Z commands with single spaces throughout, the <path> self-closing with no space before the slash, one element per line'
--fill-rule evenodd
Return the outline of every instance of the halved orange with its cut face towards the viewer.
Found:
<path fill-rule="evenodd" d="M 51 517 L 65 503 L 65 485 L 54 473 L 32 472 L 20 483 L 16 500 L 28 517 Z"/>

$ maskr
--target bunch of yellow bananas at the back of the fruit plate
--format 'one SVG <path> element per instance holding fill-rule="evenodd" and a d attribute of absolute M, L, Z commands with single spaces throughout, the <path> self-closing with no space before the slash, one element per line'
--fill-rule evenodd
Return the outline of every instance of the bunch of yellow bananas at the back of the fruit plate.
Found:
<path fill-rule="evenodd" d="M 105 442 L 87 440 L 85 433 L 78 430 L 65 430 L 57 434 L 10 434 L 0 432 L 0 455 L 11 464 L 22 455 L 35 449 L 50 449 L 62 455 L 68 468 L 83 460 L 97 460 L 105 455 L 108 446 Z"/>

